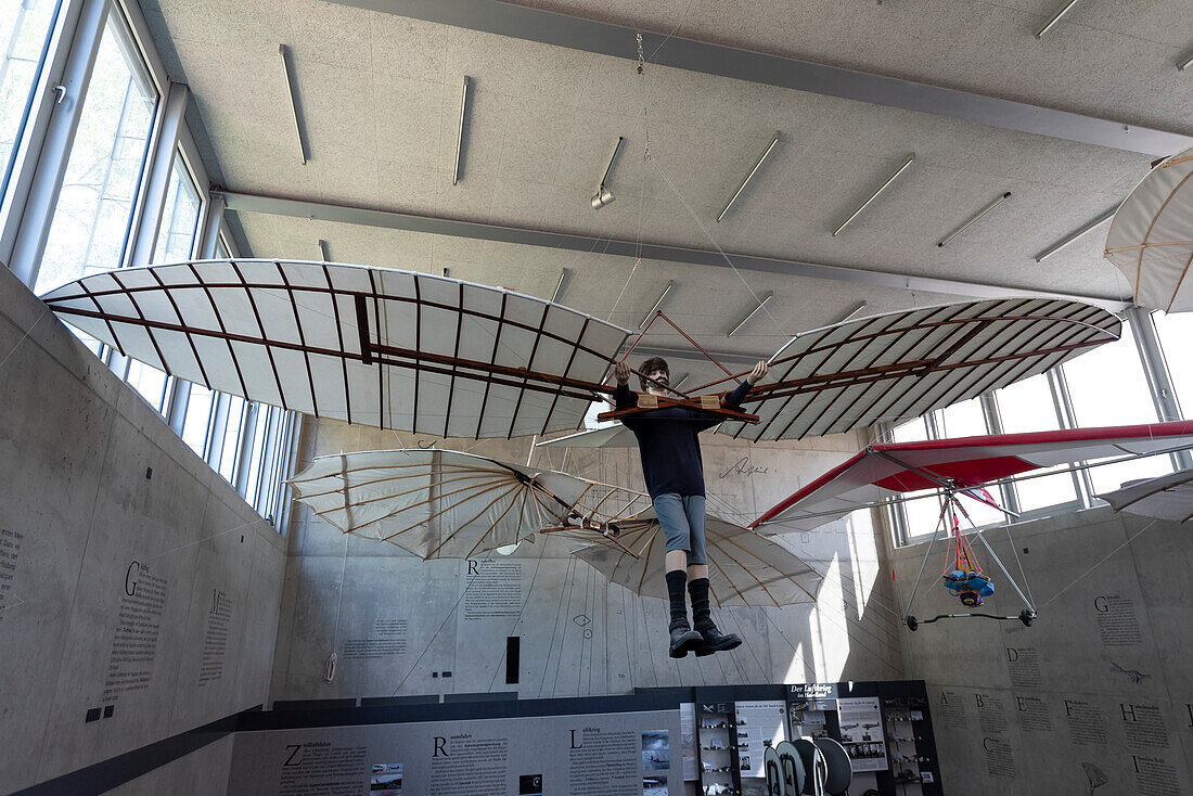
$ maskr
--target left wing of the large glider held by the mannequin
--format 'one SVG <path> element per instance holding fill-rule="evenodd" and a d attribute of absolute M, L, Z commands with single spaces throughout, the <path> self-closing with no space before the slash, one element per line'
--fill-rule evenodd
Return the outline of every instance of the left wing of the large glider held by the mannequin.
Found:
<path fill-rule="evenodd" d="M 304 414 L 443 437 L 575 430 L 629 334 L 508 290 L 286 260 L 119 269 L 43 298 L 73 326 L 173 376 Z"/>

